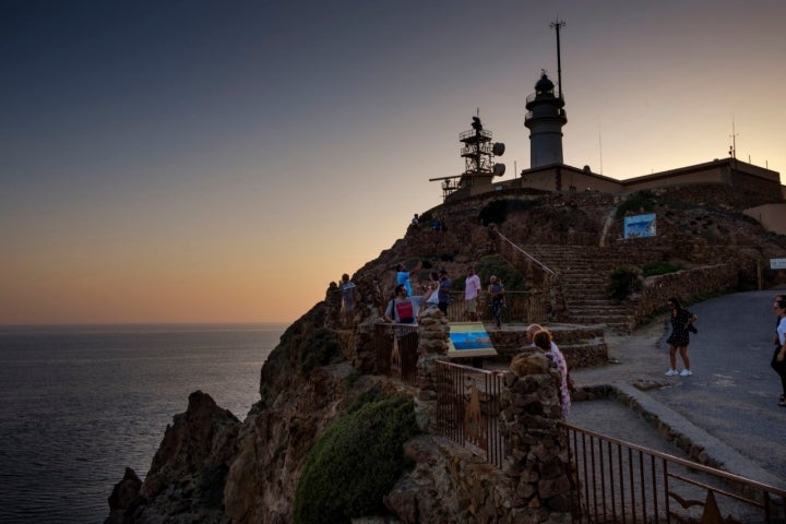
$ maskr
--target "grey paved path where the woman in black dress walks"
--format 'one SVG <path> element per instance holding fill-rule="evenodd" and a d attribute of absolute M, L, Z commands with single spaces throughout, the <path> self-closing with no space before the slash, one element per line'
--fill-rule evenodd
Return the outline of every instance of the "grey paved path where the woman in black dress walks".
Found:
<path fill-rule="evenodd" d="M 607 335 L 619 364 L 571 371 L 577 386 L 614 385 L 645 413 L 704 448 L 723 468 L 786 489 L 786 407 L 770 368 L 775 291 L 728 295 L 688 306 L 698 317 L 691 335 L 692 377 L 665 377 L 669 327 L 660 317 L 632 336 Z M 681 369 L 678 356 L 678 368 Z M 658 384 L 642 391 L 638 382 Z M 573 404 L 571 424 L 633 443 L 686 456 L 626 404 Z"/>

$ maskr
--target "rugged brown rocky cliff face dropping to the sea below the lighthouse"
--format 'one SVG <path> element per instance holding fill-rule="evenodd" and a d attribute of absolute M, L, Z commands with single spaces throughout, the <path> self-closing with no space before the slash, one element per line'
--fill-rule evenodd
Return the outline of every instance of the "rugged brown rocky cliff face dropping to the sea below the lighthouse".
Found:
<path fill-rule="evenodd" d="M 724 249 L 752 250 L 760 261 L 783 253 L 777 243 L 782 239 L 737 213 L 736 195 L 691 191 L 695 193 L 691 205 L 665 203 L 675 194 L 660 195 L 655 203 L 658 238 L 653 243 L 670 250 L 674 258 L 712 263 Z M 377 373 L 371 336 L 379 307 L 393 287 L 393 265 L 418 258 L 446 266 L 452 275 L 463 274 L 465 264 L 496 252 L 489 228 L 481 223 L 488 204 L 532 196 L 495 194 L 428 212 L 440 216 L 448 231 L 436 236 L 428 224 L 410 228 L 353 276 L 359 308 L 352 331 L 337 329 L 338 294 L 331 285 L 325 301 L 284 333 L 264 364 L 260 401 L 246 420 L 216 406 L 205 393 L 191 394 L 186 413 L 166 428 L 144 484 L 140 486 L 135 474 L 127 472 L 116 486 L 106 522 L 291 522 L 297 479 L 318 437 L 372 388 L 402 390 L 401 383 Z M 497 217 L 499 229 L 523 246 L 598 246 L 602 237 L 614 241 L 621 236 L 621 221 L 615 217 L 618 198 L 538 198 L 536 207 L 509 205 L 500 215 L 503 219 Z M 700 201 L 704 205 L 696 205 L 695 199 L 704 199 Z M 531 490 L 523 485 L 516 488 L 510 476 L 439 439 L 418 438 L 406 450 L 416 466 L 385 498 L 403 522 L 505 522 L 511 516 L 499 511 L 511 499 L 497 499 Z"/>

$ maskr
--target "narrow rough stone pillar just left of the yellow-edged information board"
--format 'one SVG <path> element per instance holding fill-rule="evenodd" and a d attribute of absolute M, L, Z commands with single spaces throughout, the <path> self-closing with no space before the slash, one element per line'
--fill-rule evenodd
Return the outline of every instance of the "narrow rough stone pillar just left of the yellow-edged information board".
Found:
<path fill-rule="evenodd" d="M 434 361 L 448 359 L 448 340 L 450 324 L 444 313 L 436 306 L 426 308 L 420 313 L 418 327 L 418 362 L 415 412 L 418 426 L 428 431 L 433 413 L 437 408 L 437 385 L 434 381 Z"/>

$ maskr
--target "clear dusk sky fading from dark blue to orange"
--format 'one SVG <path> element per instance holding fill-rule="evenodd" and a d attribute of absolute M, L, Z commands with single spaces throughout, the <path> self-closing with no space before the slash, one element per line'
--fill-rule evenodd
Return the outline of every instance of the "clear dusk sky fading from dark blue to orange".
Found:
<path fill-rule="evenodd" d="M 479 115 L 529 167 L 786 171 L 786 2 L 0 0 L 0 324 L 289 322 L 442 201 Z"/>

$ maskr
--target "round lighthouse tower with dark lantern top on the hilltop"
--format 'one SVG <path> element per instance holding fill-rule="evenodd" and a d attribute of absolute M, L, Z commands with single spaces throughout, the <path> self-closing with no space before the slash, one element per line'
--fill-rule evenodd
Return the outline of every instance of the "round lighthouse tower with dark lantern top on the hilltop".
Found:
<path fill-rule="evenodd" d="M 562 96 L 544 71 L 527 96 L 524 126 L 529 129 L 529 168 L 562 164 L 562 126 L 568 123 Z"/>

